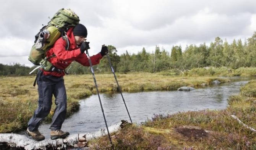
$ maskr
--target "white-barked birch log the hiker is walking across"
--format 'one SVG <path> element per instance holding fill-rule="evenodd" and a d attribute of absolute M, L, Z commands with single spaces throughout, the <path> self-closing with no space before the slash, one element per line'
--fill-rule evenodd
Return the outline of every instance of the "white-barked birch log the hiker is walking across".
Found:
<path fill-rule="evenodd" d="M 129 124 L 127 121 L 109 127 L 110 134 L 122 129 Z M 107 135 L 107 129 L 100 129 L 94 133 L 72 134 L 66 139 L 45 139 L 40 142 L 29 139 L 25 135 L 19 134 L 0 134 L 0 143 L 5 143 L 11 147 L 22 148 L 25 150 L 47 150 L 47 149 L 66 149 L 67 147 L 84 147 L 89 140 Z"/>

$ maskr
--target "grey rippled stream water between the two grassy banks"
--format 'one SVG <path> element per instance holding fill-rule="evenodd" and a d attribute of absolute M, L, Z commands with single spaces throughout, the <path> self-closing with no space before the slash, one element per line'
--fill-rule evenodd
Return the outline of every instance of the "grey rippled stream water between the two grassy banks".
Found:
<path fill-rule="evenodd" d="M 154 91 L 123 93 L 131 119 L 134 123 L 151 119 L 154 114 L 173 114 L 179 111 L 204 109 L 220 110 L 228 105 L 230 95 L 239 94 L 240 87 L 255 77 L 230 77 L 231 82 L 201 87 L 190 92 Z M 108 126 L 121 120 L 130 122 L 120 93 L 100 94 Z M 50 124 L 42 123 L 39 131 L 50 138 Z M 97 95 L 80 100 L 79 111 L 67 118 L 62 125 L 63 131 L 70 134 L 94 132 L 105 127 L 104 118 Z M 25 131 L 19 132 L 24 134 Z"/>

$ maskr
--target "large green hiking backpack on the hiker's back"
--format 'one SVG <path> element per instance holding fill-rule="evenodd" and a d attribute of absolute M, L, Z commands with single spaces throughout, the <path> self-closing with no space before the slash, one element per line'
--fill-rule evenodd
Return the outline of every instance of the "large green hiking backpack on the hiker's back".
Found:
<path fill-rule="evenodd" d="M 79 17 L 74 13 L 74 11 L 64 8 L 58 10 L 47 26 L 42 27 L 42 29 L 40 29 L 40 31 L 35 35 L 35 44 L 31 48 L 28 60 L 34 65 L 40 65 L 37 68 L 42 67 L 44 70 L 49 71 L 52 68 L 52 64 L 45 57 L 46 52 L 53 47 L 53 44 L 61 36 L 66 40 L 67 50 L 69 47 L 69 41 L 66 37 L 66 31 L 68 31 L 70 27 L 76 26 L 79 21 Z"/>

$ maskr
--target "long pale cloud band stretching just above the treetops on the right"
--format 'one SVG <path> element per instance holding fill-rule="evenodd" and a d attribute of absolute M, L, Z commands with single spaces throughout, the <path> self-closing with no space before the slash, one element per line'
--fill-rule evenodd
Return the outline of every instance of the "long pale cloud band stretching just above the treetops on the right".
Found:
<path fill-rule="evenodd" d="M 193 23 L 192 18 L 185 18 L 180 23 L 172 24 L 151 32 L 123 32 L 123 38 L 114 39 L 112 42 L 118 47 L 129 45 L 156 45 L 170 44 L 186 40 L 194 43 L 203 43 L 214 37 L 235 36 L 244 32 L 250 24 L 251 15 L 220 16 L 206 24 Z M 135 38 L 134 38 L 135 37 Z"/>

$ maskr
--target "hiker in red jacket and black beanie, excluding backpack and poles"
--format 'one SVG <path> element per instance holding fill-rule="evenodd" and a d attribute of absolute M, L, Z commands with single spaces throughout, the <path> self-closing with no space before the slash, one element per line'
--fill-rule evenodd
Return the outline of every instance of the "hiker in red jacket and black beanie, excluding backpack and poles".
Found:
<path fill-rule="evenodd" d="M 44 140 L 45 137 L 38 131 L 40 121 L 49 113 L 52 105 L 52 95 L 55 97 L 56 108 L 52 117 L 51 139 L 65 138 L 68 132 L 61 130 L 62 123 L 66 116 L 66 89 L 63 76 L 66 69 L 72 61 L 77 61 L 83 66 L 90 66 L 89 59 L 84 53 L 89 49 L 89 42 L 85 42 L 87 37 L 87 29 L 83 24 L 78 24 L 74 28 L 70 28 L 67 32 L 70 42 L 68 50 L 66 50 L 66 40 L 62 37 L 58 39 L 53 47 L 47 51 L 48 61 L 53 65 L 51 71 L 41 69 L 37 78 L 38 85 L 38 107 L 34 115 L 28 122 L 27 134 L 31 135 L 35 140 Z M 90 57 L 92 65 L 97 65 L 100 59 L 108 52 L 107 47 L 102 47 L 101 51 Z"/>

